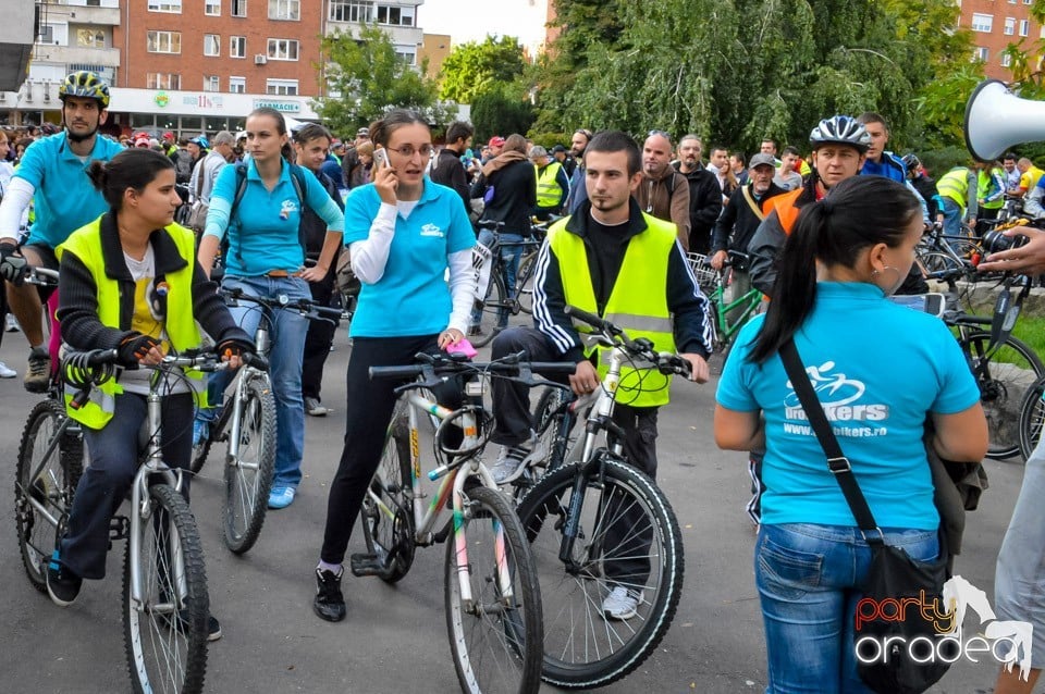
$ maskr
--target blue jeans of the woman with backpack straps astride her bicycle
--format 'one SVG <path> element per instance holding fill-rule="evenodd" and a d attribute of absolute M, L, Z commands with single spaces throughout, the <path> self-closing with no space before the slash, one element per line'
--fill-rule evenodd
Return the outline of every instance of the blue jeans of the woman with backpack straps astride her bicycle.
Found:
<path fill-rule="evenodd" d="M 225 289 L 242 288 L 246 294 L 267 298 L 285 295 L 291 301 L 312 297 L 308 283 L 300 277 L 232 277 L 221 283 Z M 308 320 L 293 310 L 262 309 L 250 301 L 230 308 L 232 317 L 254 337 L 261 314 L 269 319 L 269 377 L 275 396 L 275 474 L 272 486 L 297 487 L 302 481 L 305 456 L 305 402 L 302 398 L 302 360 Z M 221 402 L 232 374 L 219 372 L 208 384 L 208 400 Z"/>

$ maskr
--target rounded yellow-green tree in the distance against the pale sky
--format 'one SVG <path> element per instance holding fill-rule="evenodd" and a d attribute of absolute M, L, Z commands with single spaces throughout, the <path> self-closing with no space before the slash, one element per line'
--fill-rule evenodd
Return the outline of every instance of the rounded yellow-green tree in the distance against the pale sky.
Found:
<path fill-rule="evenodd" d="M 476 95 L 521 77 L 525 67 L 522 46 L 513 36 L 455 46 L 440 72 L 440 97 L 471 103 Z"/>

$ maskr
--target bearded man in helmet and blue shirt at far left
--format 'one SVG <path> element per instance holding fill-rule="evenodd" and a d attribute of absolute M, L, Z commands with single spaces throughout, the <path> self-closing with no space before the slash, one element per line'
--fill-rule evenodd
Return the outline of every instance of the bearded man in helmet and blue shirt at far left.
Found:
<path fill-rule="evenodd" d="M 11 311 L 29 342 L 24 383 L 30 393 L 47 392 L 51 362 L 40 323 L 41 296 L 36 286 L 22 280 L 29 267 L 58 270 L 54 248 L 109 209 L 87 177 L 87 163 L 95 159 L 109 161 L 123 151 L 119 142 L 98 135 L 109 114 L 109 85 L 97 74 L 71 73 L 58 96 L 65 132 L 25 150 L 0 202 L 0 275 L 7 281 Z M 35 202 L 36 221 L 20 248 L 19 221 L 30 200 Z"/>

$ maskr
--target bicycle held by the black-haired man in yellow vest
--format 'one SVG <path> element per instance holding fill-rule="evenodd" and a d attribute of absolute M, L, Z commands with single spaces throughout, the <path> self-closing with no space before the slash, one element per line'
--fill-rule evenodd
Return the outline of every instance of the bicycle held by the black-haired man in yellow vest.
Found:
<path fill-rule="evenodd" d="M 598 315 L 574 307 L 566 312 L 594 326 L 603 344 L 613 346 L 608 372 L 593 394 L 560 398 L 540 414 L 539 426 L 555 432 L 553 454 L 518 512 L 544 604 L 542 678 L 565 689 L 589 689 L 620 680 L 653 653 L 674 619 L 685 568 L 681 531 L 671 503 L 649 475 L 623 457 L 623 431 L 612 420 L 629 386 L 620 382 L 620 368 L 641 362 L 661 374 L 688 376 L 689 362 L 655 352 L 648 339 L 631 340 Z M 557 387 L 565 392 L 568 386 Z M 573 422 L 589 407 L 579 459 L 568 461 Z M 603 432 L 614 434 L 615 442 L 597 448 Z M 644 567 L 627 566 L 636 560 L 649 562 L 648 578 L 637 575 Z M 603 599 L 615 587 L 638 594 L 634 617 L 611 621 L 602 614 Z"/>

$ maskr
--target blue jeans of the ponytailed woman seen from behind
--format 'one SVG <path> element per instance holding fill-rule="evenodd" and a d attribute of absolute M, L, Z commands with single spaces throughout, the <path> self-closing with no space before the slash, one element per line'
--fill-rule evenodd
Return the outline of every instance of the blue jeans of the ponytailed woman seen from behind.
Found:
<path fill-rule="evenodd" d="M 935 530 L 883 529 L 912 559 L 939 554 Z M 762 603 L 767 694 L 870 692 L 857 674 L 853 622 L 871 548 L 859 528 L 762 525 L 754 580 Z"/>

